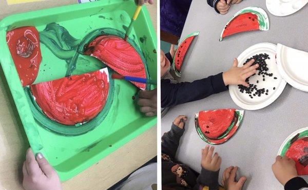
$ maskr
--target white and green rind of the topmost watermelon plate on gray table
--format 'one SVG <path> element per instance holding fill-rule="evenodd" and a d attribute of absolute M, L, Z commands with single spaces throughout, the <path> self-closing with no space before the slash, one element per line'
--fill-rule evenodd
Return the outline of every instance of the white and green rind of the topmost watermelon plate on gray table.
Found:
<path fill-rule="evenodd" d="M 256 14 L 258 16 L 258 23 L 259 23 L 260 30 L 268 30 L 269 29 L 269 22 L 268 22 L 267 14 L 266 14 L 266 12 L 263 9 L 261 9 L 259 7 L 247 7 L 247 8 L 244 8 L 244 9 L 240 10 L 239 12 L 237 12 L 232 17 L 232 19 L 226 25 L 228 25 L 231 21 L 233 21 L 234 18 L 236 18 L 238 15 L 244 14 L 244 13 L 248 13 L 248 12 Z M 223 31 L 224 30 L 225 29 L 223 29 Z M 223 31 L 221 32 L 219 41 L 222 41 Z"/>

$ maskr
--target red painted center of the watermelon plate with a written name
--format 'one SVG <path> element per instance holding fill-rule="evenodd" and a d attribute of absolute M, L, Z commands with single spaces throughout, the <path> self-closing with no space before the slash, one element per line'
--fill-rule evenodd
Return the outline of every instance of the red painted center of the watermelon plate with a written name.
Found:
<path fill-rule="evenodd" d="M 235 33 L 259 30 L 258 16 L 253 13 L 244 13 L 236 16 L 224 29 L 222 37 Z"/>

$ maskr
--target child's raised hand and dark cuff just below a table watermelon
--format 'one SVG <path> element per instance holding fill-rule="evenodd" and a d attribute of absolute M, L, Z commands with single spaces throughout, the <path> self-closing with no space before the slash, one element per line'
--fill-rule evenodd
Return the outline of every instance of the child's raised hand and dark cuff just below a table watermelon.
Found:
<path fill-rule="evenodd" d="M 201 173 L 197 178 L 197 183 L 201 186 L 208 186 L 209 190 L 218 189 L 218 175 L 221 165 L 221 158 L 217 153 L 214 154 L 214 147 L 206 145 L 202 149 Z"/>

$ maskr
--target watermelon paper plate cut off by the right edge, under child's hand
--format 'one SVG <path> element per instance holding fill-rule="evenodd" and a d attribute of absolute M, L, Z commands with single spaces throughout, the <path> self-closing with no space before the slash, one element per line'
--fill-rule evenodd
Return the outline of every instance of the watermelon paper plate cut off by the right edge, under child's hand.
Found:
<path fill-rule="evenodd" d="M 288 136 L 280 146 L 278 155 L 293 159 L 298 175 L 308 175 L 308 127 Z"/>

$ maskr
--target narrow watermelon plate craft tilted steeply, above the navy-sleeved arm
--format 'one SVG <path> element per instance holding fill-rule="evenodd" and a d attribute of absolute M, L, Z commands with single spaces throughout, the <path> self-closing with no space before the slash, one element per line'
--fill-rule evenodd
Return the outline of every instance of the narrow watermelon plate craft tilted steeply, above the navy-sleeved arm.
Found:
<path fill-rule="evenodd" d="M 192 40 L 194 40 L 198 35 L 199 32 L 192 32 L 191 34 L 187 35 L 178 46 L 172 63 L 175 73 L 178 77 L 181 77 L 181 67 L 183 65 L 186 52 L 189 49 Z"/>

